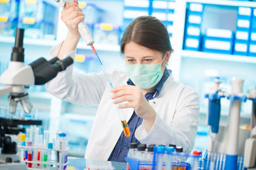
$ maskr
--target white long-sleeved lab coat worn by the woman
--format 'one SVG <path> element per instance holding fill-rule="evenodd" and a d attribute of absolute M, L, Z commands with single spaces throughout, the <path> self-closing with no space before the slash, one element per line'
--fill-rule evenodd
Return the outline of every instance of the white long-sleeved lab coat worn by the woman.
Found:
<path fill-rule="evenodd" d="M 53 47 L 50 57 L 55 57 L 59 48 L 60 44 Z M 74 58 L 75 52 L 68 55 Z M 115 86 L 127 84 L 129 79 L 124 72 L 118 70 L 114 70 L 109 75 Z M 105 75 L 102 72 L 73 74 L 73 66 L 71 66 L 49 81 L 46 89 L 50 94 L 70 103 L 98 106 L 85 159 L 107 160 L 123 129 L 117 108 L 110 99 L 111 87 Z M 191 87 L 174 81 L 170 75 L 159 96 L 149 100 L 149 103 L 156 111 L 156 120 L 150 132 L 147 132 L 142 122 L 135 132 L 137 140 L 146 145 L 176 144 L 182 146 L 184 152 L 191 152 L 198 124 L 198 94 Z M 125 117 L 128 122 L 133 109 L 126 110 Z"/>

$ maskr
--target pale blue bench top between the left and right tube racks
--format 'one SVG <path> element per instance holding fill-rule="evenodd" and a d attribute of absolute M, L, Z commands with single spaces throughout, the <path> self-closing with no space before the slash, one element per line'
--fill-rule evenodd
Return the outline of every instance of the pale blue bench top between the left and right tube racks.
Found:
<path fill-rule="evenodd" d="M 84 169 L 127 169 L 127 163 L 68 157 L 68 170 Z"/>

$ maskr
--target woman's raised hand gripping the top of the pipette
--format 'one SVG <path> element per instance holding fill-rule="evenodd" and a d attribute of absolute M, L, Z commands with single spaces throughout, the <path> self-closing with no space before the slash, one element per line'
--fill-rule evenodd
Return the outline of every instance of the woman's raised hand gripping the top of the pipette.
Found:
<path fill-rule="evenodd" d="M 80 33 L 78 32 L 78 23 L 85 19 L 85 14 L 82 13 L 82 9 L 78 6 L 78 0 L 73 2 L 67 2 L 61 11 L 61 20 L 68 27 L 69 34 L 73 38 L 80 38 Z M 75 37 L 74 37 L 75 36 Z"/>

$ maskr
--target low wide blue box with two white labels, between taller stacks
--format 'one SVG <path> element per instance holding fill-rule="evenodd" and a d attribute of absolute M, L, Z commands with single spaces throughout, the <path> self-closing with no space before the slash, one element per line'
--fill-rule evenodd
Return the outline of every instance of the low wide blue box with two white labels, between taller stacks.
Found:
<path fill-rule="evenodd" d="M 233 38 L 232 30 L 208 28 L 203 38 L 203 51 L 232 54 Z"/>

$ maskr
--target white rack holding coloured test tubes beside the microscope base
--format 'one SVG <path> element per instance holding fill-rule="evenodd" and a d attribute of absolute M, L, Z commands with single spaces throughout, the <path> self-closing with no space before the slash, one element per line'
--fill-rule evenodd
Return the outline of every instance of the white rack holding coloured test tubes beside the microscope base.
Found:
<path fill-rule="evenodd" d="M 26 164 L 28 164 L 28 163 L 32 164 L 32 167 L 27 167 L 27 169 L 31 169 L 31 170 L 41 170 L 41 169 L 63 170 L 63 169 L 66 169 L 66 167 L 68 165 L 68 157 L 67 157 L 66 162 L 65 162 L 65 160 L 63 160 L 63 156 L 64 156 L 64 152 L 68 152 L 68 150 L 70 149 L 69 147 L 67 149 L 48 149 L 46 147 L 27 147 L 27 146 L 21 146 L 21 145 L 18 145 L 17 147 L 19 149 L 24 149 L 24 150 L 32 149 L 32 150 L 41 150 L 41 152 L 43 152 L 43 151 L 56 152 L 59 155 L 58 162 L 57 162 L 57 160 L 52 160 L 51 158 L 50 158 L 50 161 L 47 161 L 47 162 L 44 162 L 44 161 L 28 161 L 28 160 L 24 160 L 24 156 L 21 155 L 21 162 L 26 163 Z M 36 167 L 33 166 L 35 164 L 36 164 Z M 38 164 L 40 164 L 40 166 L 37 166 Z M 44 167 L 43 166 L 44 164 L 46 164 L 48 166 Z"/>

